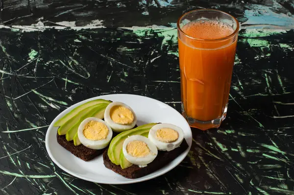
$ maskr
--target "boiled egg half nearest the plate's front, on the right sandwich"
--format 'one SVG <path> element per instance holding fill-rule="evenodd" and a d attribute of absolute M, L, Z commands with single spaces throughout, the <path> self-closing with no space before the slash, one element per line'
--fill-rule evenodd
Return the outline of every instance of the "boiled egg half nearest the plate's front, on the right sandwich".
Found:
<path fill-rule="evenodd" d="M 142 135 L 132 135 L 123 142 L 123 155 L 130 163 L 145 167 L 157 156 L 157 147 Z"/>

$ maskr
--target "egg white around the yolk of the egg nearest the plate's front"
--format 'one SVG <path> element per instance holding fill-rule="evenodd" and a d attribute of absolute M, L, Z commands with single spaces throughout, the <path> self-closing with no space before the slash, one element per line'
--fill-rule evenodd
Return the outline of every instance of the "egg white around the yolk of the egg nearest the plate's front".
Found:
<path fill-rule="evenodd" d="M 126 145 L 132 141 L 142 141 L 145 142 L 150 149 L 150 153 L 144 157 L 134 157 L 127 153 Z M 139 167 L 145 167 L 147 164 L 151 163 L 157 156 L 157 147 L 147 138 L 142 135 L 132 135 L 126 138 L 123 142 L 123 155 L 130 163 L 138 165 Z"/>

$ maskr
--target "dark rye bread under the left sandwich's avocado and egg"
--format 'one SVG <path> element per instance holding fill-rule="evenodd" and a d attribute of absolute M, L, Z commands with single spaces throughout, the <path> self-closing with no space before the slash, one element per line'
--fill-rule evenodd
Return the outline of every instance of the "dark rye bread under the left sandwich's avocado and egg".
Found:
<path fill-rule="evenodd" d="M 57 133 L 57 142 L 61 146 L 63 146 L 65 149 L 72 152 L 72 154 L 84 161 L 89 161 L 98 156 L 99 154 L 102 154 L 103 151 L 106 149 L 91 149 L 84 145 L 74 146 L 73 141 L 67 141 L 65 138 L 65 135 L 58 135 Z"/>

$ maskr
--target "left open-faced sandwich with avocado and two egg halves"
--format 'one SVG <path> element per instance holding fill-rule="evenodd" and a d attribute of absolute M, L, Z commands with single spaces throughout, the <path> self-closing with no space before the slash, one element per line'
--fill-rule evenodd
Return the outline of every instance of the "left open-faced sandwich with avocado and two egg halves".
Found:
<path fill-rule="evenodd" d="M 128 105 L 96 99 L 75 107 L 53 126 L 59 127 L 57 142 L 61 146 L 89 161 L 103 153 L 114 135 L 136 127 L 136 122 Z"/>

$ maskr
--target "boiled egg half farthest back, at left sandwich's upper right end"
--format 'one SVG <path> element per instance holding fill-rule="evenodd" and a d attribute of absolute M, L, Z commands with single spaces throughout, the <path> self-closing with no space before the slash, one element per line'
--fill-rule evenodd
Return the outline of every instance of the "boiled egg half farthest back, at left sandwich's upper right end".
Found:
<path fill-rule="evenodd" d="M 137 116 L 132 108 L 123 102 L 114 101 L 105 109 L 104 121 L 115 132 L 123 132 L 132 129 L 137 122 Z"/>

